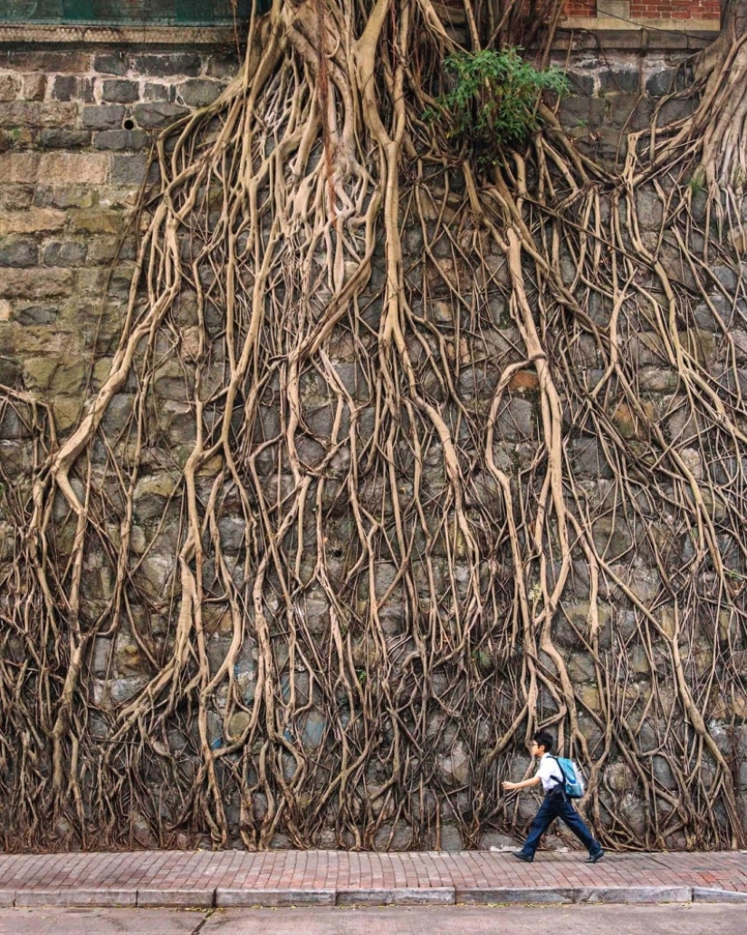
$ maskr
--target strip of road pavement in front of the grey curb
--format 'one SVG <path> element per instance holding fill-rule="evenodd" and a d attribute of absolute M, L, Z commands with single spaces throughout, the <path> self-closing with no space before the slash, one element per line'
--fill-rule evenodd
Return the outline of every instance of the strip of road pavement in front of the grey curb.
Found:
<path fill-rule="evenodd" d="M 0 910 L 2 935 L 744 935 L 743 905 Z"/>

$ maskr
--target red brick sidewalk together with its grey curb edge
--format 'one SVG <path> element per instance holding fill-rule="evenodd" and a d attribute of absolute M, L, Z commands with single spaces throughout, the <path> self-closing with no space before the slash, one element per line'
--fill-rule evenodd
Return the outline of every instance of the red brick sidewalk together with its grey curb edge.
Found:
<path fill-rule="evenodd" d="M 0 906 L 747 902 L 747 854 L 135 851 L 0 855 Z"/>

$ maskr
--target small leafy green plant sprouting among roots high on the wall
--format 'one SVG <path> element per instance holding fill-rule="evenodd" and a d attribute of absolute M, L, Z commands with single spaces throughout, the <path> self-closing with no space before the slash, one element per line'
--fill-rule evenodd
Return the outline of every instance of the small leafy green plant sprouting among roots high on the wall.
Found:
<path fill-rule="evenodd" d="M 521 49 L 457 52 L 444 60 L 453 88 L 436 99 L 424 119 L 445 119 L 446 136 L 465 147 L 480 165 L 493 165 L 506 149 L 515 149 L 539 129 L 539 95 L 564 94 L 566 76 L 559 68 L 540 71 L 524 62 Z"/>

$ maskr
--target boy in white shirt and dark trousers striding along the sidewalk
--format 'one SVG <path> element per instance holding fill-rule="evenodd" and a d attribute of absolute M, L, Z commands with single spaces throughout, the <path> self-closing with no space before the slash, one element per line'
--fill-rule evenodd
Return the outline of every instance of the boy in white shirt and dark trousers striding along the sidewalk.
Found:
<path fill-rule="evenodd" d="M 596 841 L 588 827 L 583 824 L 581 815 L 573 808 L 566 795 L 563 772 L 552 755 L 553 735 L 546 730 L 538 730 L 532 738 L 531 750 L 533 756 L 539 756 L 537 773 L 531 779 L 525 779 L 523 783 L 506 782 L 503 788 L 507 791 L 524 789 L 541 783 L 545 790 L 545 800 L 539 806 L 539 812 L 529 828 L 524 847 L 521 851 L 514 851 L 513 856 L 530 864 L 534 860 L 542 835 L 553 824 L 555 818 L 562 818 L 588 850 L 589 856 L 586 858 L 586 863 L 596 864 L 597 860 L 601 860 L 604 856 L 604 851 L 599 841 Z"/>

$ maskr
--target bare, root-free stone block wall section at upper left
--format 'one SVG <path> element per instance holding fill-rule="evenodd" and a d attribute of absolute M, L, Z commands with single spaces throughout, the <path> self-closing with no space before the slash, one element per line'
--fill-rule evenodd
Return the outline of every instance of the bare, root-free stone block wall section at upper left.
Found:
<path fill-rule="evenodd" d="M 48 396 L 62 431 L 116 333 L 151 140 L 220 94 L 237 61 L 225 48 L 0 48 L 0 380 Z"/>

